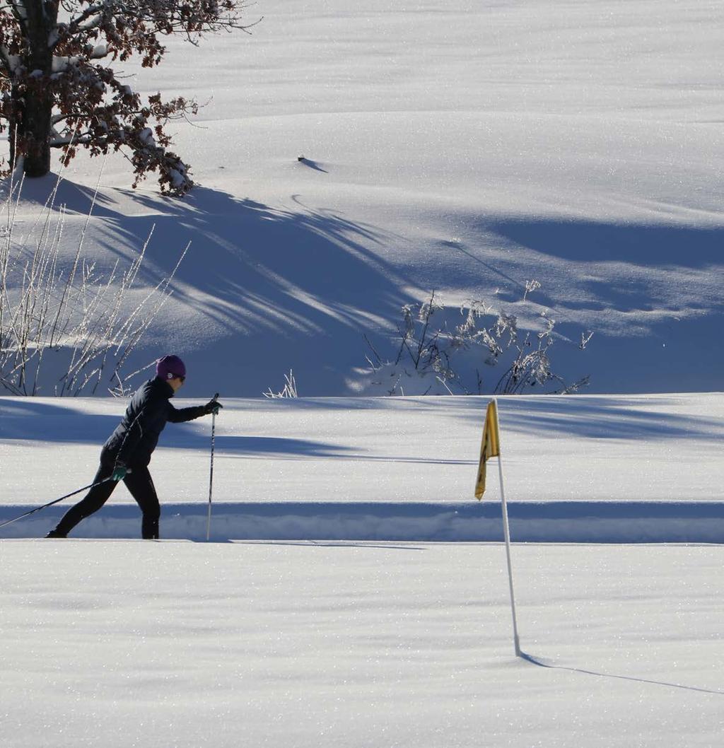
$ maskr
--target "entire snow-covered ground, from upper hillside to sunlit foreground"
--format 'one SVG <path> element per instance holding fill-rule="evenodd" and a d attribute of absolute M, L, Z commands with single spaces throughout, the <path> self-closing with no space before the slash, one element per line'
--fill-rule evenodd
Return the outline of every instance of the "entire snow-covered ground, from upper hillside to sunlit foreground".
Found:
<path fill-rule="evenodd" d="M 108 159 L 84 243 L 109 269 L 155 226 L 147 288 L 191 241 L 129 368 L 176 352 L 184 397 L 221 392 L 212 538 L 236 542 L 189 542 L 208 419 L 154 455 L 169 540 L 129 540 L 125 488 L 78 540 L 37 540 L 70 501 L 1 528 L 0 745 L 718 747 L 723 8 L 248 12 L 251 37 L 126 64 L 141 91 L 208 102 L 176 137 L 199 187 L 132 191 Z M 64 173 L 64 257 L 99 169 Z M 25 185 L 16 238 L 53 183 Z M 500 399 L 530 659 L 500 544 L 430 542 L 500 537 L 494 464 L 472 497 L 487 398 L 346 397 L 384 390 L 363 336 L 394 358 L 400 307 L 432 289 L 448 325 L 470 299 L 545 313 L 554 369 L 592 375 L 587 396 Z M 306 397 L 260 398 L 289 369 Z M 90 482 L 122 410 L 0 398 L 0 521 Z"/>

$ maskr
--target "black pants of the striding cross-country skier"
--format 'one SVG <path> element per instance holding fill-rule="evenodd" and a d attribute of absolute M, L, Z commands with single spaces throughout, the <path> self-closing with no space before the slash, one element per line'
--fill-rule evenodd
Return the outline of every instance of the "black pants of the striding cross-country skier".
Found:
<path fill-rule="evenodd" d="M 105 453 L 101 453 L 100 467 L 95 478 L 93 478 L 93 483 L 98 483 L 105 478 L 109 478 L 113 474 L 113 468 L 114 459 L 111 456 L 105 455 Z M 126 475 L 123 482 L 131 492 L 132 497 L 135 498 L 138 506 L 141 507 L 141 512 L 143 512 L 141 537 L 144 540 L 158 539 L 161 506 L 159 505 L 159 497 L 156 496 L 156 488 L 153 487 L 153 479 L 151 479 L 151 473 L 148 472 L 148 468 L 145 465 L 142 465 L 140 468 L 132 467 L 131 472 Z M 70 533 L 70 530 L 73 530 L 76 524 L 92 515 L 93 512 L 97 512 L 108 501 L 108 497 L 113 493 L 116 485 L 116 481 L 107 480 L 105 483 L 91 488 L 85 498 L 80 500 L 76 506 L 71 506 L 68 509 L 55 530 L 63 535 Z"/>

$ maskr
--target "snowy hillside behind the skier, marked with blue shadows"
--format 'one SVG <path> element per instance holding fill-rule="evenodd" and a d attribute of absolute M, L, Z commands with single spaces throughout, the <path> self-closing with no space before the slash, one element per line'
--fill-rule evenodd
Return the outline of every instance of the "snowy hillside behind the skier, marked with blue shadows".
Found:
<path fill-rule="evenodd" d="M 303 396 L 358 393 L 363 334 L 394 357 L 399 308 L 435 289 L 449 324 L 471 298 L 533 328 L 546 311 L 554 368 L 591 392 L 722 389 L 720 4 L 260 0 L 261 15 L 251 37 L 169 40 L 162 67 L 124 66 L 141 91 L 208 102 L 177 126 L 188 200 L 105 164 L 98 269 L 155 224 L 151 283 L 192 242 L 132 364 L 173 349 L 194 396 L 256 397 L 290 368 Z M 69 254 L 99 170 L 65 174 Z M 36 212 L 21 206 L 19 236 Z M 491 392 L 500 372 L 482 375 Z"/>

